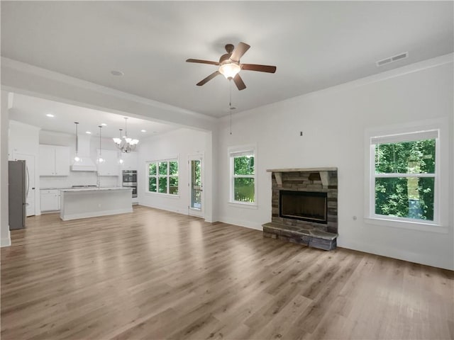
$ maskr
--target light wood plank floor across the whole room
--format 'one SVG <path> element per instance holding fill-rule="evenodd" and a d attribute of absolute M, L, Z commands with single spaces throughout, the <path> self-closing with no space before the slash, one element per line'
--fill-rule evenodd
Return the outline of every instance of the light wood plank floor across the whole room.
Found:
<path fill-rule="evenodd" d="M 135 207 L 29 217 L 1 339 L 453 339 L 453 272 Z"/>

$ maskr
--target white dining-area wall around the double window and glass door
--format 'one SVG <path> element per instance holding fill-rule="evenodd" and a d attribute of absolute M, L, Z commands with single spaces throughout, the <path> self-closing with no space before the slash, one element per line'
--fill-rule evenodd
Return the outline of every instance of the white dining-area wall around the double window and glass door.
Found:
<path fill-rule="evenodd" d="M 188 157 L 195 154 L 204 155 L 204 171 L 211 174 L 211 133 L 199 130 L 179 129 L 163 135 L 140 141 L 138 147 L 138 200 L 140 205 L 160 208 L 182 214 L 188 213 L 189 205 L 189 170 Z M 163 196 L 157 193 L 146 193 L 148 180 L 145 162 L 160 159 L 177 158 L 179 161 L 179 195 Z M 205 191 L 211 191 L 211 185 L 205 181 Z M 211 208 L 206 209 L 205 218 L 211 221 Z"/>

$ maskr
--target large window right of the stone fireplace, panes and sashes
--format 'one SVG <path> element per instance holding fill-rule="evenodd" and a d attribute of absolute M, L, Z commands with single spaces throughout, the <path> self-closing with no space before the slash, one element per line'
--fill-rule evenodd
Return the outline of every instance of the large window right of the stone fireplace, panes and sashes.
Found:
<path fill-rule="evenodd" d="M 372 137 L 372 217 L 438 221 L 438 130 Z"/>

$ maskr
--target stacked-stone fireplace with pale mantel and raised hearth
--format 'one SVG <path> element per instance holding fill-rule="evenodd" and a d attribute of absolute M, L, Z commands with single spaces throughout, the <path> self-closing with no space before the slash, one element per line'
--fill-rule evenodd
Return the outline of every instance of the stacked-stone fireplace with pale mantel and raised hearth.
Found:
<path fill-rule="evenodd" d="M 336 248 L 337 168 L 271 169 L 272 217 L 265 237 L 319 249 Z"/>

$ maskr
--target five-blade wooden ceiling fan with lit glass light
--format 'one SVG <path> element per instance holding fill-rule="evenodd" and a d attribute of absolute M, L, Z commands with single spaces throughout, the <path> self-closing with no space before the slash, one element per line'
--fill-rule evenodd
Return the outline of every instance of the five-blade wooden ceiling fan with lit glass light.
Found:
<path fill-rule="evenodd" d="M 243 57 L 245 52 L 249 50 L 249 45 L 244 42 L 240 42 L 236 48 L 232 44 L 226 45 L 226 54 L 221 55 L 219 62 L 210 62 L 209 60 L 199 60 L 199 59 L 188 59 L 187 62 L 196 62 L 199 64 L 211 64 L 218 66 L 218 70 L 213 72 L 205 79 L 199 81 L 197 86 L 202 86 L 208 81 L 216 77 L 218 74 L 223 74 L 226 79 L 233 79 L 233 82 L 238 87 L 238 90 L 244 90 L 246 88 L 243 79 L 241 79 L 240 72 L 242 69 L 247 71 L 258 71 L 258 72 L 268 72 L 275 73 L 276 67 L 270 65 L 258 65 L 258 64 L 241 64 L 240 57 Z"/>

